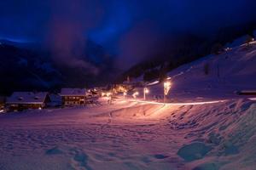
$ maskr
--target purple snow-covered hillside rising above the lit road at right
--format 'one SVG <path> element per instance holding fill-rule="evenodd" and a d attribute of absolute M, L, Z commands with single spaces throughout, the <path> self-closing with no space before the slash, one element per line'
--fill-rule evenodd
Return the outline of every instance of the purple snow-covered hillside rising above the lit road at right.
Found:
<path fill-rule="evenodd" d="M 207 73 L 206 73 L 207 72 Z M 241 44 L 223 54 L 208 55 L 168 73 L 169 101 L 234 99 L 239 90 L 256 90 L 256 42 Z M 163 83 L 148 86 L 148 99 L 163 97 Z M 143 88 L 137 88 L 143 97 Z"/>

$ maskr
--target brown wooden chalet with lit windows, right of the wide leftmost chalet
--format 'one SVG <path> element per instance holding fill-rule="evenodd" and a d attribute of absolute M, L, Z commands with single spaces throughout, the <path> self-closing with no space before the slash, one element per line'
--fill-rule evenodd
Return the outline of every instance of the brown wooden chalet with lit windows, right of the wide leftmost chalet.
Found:
<path fill-rule="evenodd" d="M 63 105 L 85 105 L 85 88 L 61 88 L 61 99 Z"/>

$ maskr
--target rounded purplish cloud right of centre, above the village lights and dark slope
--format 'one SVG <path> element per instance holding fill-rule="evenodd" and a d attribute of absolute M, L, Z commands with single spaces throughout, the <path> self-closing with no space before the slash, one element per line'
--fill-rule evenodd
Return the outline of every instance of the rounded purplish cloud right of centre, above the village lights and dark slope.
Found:
<path fill-rule="evenodd" d="M 119 68 L 128 69 L 149 55 L 157 52 L 157 46 L 162 39 L 159 28 L 145 20 L 132 27 L 119 41 Z"/>

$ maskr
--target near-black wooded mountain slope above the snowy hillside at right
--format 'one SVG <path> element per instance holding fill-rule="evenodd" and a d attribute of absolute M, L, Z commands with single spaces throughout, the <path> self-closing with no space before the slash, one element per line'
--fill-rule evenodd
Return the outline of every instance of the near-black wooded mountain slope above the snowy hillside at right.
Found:
<path fill-rule="evenodd" d="M 235 40 L 238 37 L 244 35 L 255 37 L 256 35 L 253 35 L 255 29 L 256 23 L 253 21 L 219 28 L 210 37 L 189 32 L 183 32 L 183 36 L 178 36 L 180 32 L 177 32 L 176 37 L 166 37 L 166 41 L 162 42 L 159 47 L 155 47 L 159 49 L 157 54 L 148 56 L 137 65 L 132 66 L 131 69 L 120 75 L 116 82 L 123 82 L 128 76 L 137 78 L 144 75 L 145 81 L 164 77 L 167 71 L 172 71 L 180 65 L 212 54 L 216 48 L 224 48 L 224 44 L 236 47 L 238 43 Z M 240 38 L 239 42 L 244 42 L 244 40 L 244 38 Z"/>

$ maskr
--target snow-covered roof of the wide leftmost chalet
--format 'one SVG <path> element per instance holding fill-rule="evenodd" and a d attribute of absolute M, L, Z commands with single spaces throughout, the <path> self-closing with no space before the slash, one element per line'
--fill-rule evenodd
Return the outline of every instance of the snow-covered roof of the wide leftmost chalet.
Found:
<path fill-rule="evenodd" d="M 7 98 L 6 104 L 44 104 L 47 92 L 14 92 Z"/>

